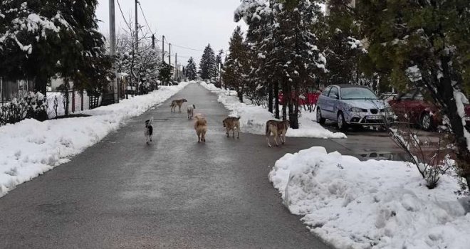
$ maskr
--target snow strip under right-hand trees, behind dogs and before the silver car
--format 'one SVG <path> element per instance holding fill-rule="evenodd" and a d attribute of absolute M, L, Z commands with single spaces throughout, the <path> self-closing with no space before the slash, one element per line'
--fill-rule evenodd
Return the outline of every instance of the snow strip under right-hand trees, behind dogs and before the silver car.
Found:
<path fill-rule="evenodd" d="M 231 111 L 231 116 L 240 117 L 241 130 L 253 134 L 264 134 L 266 121 L 273 120 L 273 114 L 265 108 L 257 105 L 247 105 L 239 102 L 236 97 L 236 91 L 221 90 L 214 84 L 201 82 L 201 85 L 216 92 L 221 102 Z M 315 113 L 302 112 L 299 117 L 299 129 L 288 129 L 287 137 L 316 137 L 316 138 L 345 138 L 342 132 L 330 132 L 315 121 Z"/>

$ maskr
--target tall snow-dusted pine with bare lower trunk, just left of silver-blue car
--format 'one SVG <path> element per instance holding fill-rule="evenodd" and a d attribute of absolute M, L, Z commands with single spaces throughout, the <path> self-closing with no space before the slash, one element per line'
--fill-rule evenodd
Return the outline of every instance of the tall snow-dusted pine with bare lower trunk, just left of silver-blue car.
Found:
<path fill-rule="evenodd" d="M 276 26 L 273 36 L 282 60 L 277 68 L 283 73 L 283 95 L 288 105 L 291 127 L 298 129 L 298 95 L 308 83 L 310 75 L 323 72 L 326 59 L 318 48 L 317 38 L 310 28 L 321 16 L 320 6 L 310 1 L 290 0 L 276 3 Z M 285 108 L 283 116 L 286 115 Z"/>

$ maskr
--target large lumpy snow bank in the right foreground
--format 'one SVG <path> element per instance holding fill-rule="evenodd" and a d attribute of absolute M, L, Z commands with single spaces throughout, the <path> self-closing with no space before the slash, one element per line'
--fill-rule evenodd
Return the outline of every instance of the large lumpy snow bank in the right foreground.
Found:
<path fill-rule="evenodd" d="M 469 248 L 458 184 L 429 190 L 401 161 L 359 161 L 312 147 L 276 161 L 269 180 L 291 213 L 337 248 Z"/>

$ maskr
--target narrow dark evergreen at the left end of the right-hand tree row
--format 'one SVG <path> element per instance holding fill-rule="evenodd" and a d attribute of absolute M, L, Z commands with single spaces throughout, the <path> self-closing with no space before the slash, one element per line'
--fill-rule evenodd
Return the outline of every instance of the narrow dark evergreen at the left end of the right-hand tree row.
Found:
<path fill-rule="evenodd" d="M 229 42 L 229 55 L 227 55 L 224 74 L 224 83 L 229 88 L 236 89 L 240 102 L 243 102 L 244 80 L 248 71 L 248 49 L 244 43 L 243 33 L 237 26 Z"/>

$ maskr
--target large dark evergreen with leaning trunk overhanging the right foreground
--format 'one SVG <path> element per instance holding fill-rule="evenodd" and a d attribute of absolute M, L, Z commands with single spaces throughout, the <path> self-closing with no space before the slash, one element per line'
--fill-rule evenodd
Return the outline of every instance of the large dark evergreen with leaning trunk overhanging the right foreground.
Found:
<path fill-rule="evenodd" d="M 464 93 L 470 90 L 470 1 L 372 1 L 357 6 L 370 44 L 369 62 L 397 88 L 421 86 L 449 119 L 459 173 L 470 186 L 470 133 Z"/>

